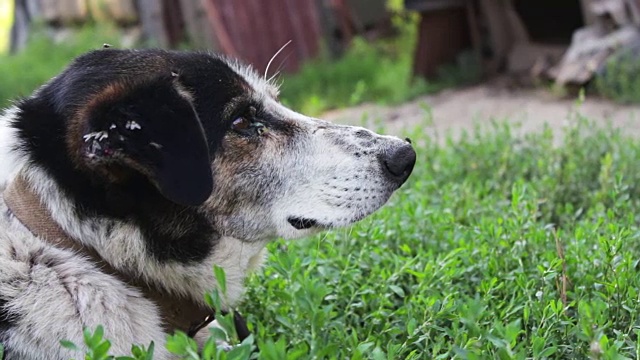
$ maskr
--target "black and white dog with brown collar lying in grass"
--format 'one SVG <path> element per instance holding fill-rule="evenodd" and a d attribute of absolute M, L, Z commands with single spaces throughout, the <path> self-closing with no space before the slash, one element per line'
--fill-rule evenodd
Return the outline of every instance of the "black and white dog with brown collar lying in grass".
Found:
<path fill-rule="evenodd" d="M 294 112 L 223 55 L 81 55 L 0 117 L 5 357 L 78 356 L 60 340 L 103 325 L 113 353 L 153 341 L 171 359 L 167 334 L 211 310 L 214 265 L 232 309 L 269 241 L 363 219 L 415 161 L 410 140 Z"/>

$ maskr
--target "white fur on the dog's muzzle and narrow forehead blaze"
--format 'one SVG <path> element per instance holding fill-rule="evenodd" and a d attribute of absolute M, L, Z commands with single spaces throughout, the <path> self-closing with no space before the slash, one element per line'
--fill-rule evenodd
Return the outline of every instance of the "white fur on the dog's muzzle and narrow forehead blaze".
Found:
<path fill-rule="evenodd" d="M 297 142 L 300 148 L 295 151 L 261 154 L 260 161 L 278 164 L 275 171 L 290 173 L 284 185 L 286 196 L 280 196 L 268 212 L 271 226 L 275 228 L 274 236 L 296 239 L 323 228 L 348 226 L 386 203 L 397 184 L 386 179 L 378 155 L 388 148 L 405 145 L 404 140 L 297 113 L 275 97 L 266 96 L 274 91 L 272 84 L 250 66 L 233 60 L 229 65 L 253 88 L 254 101 L 261 102 L 267 112 L 295 123 L 305 133 L 300 135 L 304 138 Z M 361 147 L 359 143 L 363 140 L 356 138 L 357 132 L 367 133 L 377 145 L 359 151 L 347 149 Z M 355 152 L 360 155 L 356 156 Z M 313 219 L 319 226 L 296 229 L 289 223 L 290 217 Z"/>

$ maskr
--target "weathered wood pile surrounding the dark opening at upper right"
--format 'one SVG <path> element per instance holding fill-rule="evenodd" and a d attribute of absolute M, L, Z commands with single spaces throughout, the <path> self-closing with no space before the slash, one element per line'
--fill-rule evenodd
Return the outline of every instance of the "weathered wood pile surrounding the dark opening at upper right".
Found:
<path fill-rule="evenodd" d="M 490 72 L 504 59 L 509 74 L 583 85 L 616 51 L 640 44 L 640 0 L 581 0 L 585 26 L 574 31 L 570 44 L 532 41 L 512 1 L 478 0 L 478 5 L 494 54 Z"/>

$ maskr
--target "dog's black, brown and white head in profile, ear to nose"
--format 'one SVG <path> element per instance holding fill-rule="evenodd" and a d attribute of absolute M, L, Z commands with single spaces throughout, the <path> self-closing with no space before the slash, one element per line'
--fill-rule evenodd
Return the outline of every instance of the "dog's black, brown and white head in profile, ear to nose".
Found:
<path fill-rule="evenodd" d="M 415 163 L 408 141 L 296 113 L 250 68 L 207 53 L 92 52 L 33 98 L 63 114 L 91 183 L 131 196 L 147 183 L 157 204 L 244 241 L 352 224 Z"/>

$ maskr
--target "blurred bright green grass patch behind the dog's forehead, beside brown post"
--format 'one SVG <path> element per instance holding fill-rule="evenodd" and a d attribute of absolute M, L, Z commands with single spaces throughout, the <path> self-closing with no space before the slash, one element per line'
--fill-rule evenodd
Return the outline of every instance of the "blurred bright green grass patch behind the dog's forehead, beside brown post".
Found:
<path fill-rule="evenodd" d="M 321 56 L 295 74 L 282 76 L 283 103 L 319 115 L 364 102 L 399 104 L 479 78 L 479 68 L 468 53 L 443 66 L 435 80 L 412 78 L 414 42 L 414 31 L 406 30 L 398 38 L 373 43 L 356 38 L 340 58 Z"/>

